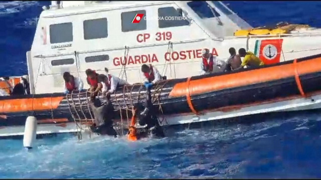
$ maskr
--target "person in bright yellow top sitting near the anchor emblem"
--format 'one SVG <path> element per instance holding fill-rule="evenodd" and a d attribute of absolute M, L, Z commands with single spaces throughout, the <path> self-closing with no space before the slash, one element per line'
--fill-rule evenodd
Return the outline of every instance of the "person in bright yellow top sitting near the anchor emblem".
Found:
<path fill-rule="evenodd" d="M 244 68 L 244 66 L 259 67 L 264 65 L 263 61 L 260 60 L 260 58 L 256 57 L 252 52 L 246 52 L 244 48 L 239 49 L 239 55 L 240 57 L 244 57 L 244 59 L 238 69 Z"/>

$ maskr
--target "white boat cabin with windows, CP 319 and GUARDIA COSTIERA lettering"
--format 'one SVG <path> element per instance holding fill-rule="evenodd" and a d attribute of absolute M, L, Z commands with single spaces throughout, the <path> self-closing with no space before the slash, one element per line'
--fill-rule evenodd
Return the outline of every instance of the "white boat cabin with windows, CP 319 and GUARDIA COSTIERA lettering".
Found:
<path fill-rule="evenodd" d="M 37 94 L 62 92 L 65 71 L 87 88 L 88 68 L 104 73 L 108 67 L 129 83 L 141 82 L 144 63 L 168 78 L 198 75 L 201 50 L 217 54 L 208 41 L 251 28 L 217 1 L 53 1 L 43 9 L 27 53 Z"/>

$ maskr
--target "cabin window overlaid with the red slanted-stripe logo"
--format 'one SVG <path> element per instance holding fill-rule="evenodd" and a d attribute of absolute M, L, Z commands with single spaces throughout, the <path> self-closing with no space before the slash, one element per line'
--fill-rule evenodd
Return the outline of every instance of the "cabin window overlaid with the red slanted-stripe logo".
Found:
<path fill-rule="evenodd" d="M 137 14 L 144 14 L 139 23 L 131 23 Z M 146 30 L 146 11 L 130 11 L 121 13 L 121 31 L 141 31 Z"/>

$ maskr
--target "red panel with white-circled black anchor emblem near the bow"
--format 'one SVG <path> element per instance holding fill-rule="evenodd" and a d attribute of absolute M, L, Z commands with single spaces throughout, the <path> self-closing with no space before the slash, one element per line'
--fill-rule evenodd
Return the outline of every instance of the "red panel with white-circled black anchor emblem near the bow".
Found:
<path fill-rule="evenodd" d="M 264 64 L 274 64 L 280 62 L 283 39 L 256 40 L 254 54 L 260 58 Z"/>

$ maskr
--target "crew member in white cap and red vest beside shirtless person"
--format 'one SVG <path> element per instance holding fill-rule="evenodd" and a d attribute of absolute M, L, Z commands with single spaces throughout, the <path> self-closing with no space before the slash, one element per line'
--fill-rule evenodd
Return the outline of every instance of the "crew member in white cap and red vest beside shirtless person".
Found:
<path fill-rule="evenodd" d="M 215 72 L 223 72 L 226 67 L 224 61 L 218 60 L 215 56 L 210 54 L 209 49 L 203 49 L 201 61 L 201 75 Z"/>

